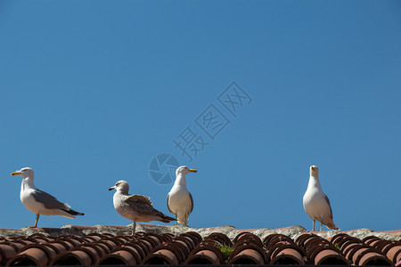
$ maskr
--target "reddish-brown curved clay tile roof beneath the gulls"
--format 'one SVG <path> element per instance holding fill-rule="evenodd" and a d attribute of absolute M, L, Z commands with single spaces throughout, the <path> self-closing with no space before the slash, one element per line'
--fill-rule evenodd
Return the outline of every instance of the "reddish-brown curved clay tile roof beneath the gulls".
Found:
<path fill-rule="evenodd" d="M 195 231 L 180 234 L 138 232 L 135 236 L 89 233 L 0 237 L 0 266 L 135 265 L 135 264 L 312 264 L 398 265 L 401 241 L 377 236 L 357 239 L 335 232 L 323 239 L 304 232 L 296 239 L 272 233 L 260 239 L 239 231 L 233 239 L 221 232 L 202 238 Z"/>

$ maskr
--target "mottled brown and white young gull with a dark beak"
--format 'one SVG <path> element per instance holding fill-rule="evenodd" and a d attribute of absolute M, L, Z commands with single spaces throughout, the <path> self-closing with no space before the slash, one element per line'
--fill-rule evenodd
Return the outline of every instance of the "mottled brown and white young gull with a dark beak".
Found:
<path fill-rule="evenodd" d="M 133 222 L 133 235 L 135 234 L 136 222 L 160 221 L 170 223 L 176 221 L 176 219 L 155 209 L 151 204 L 151 198 L 141 195 L 128 195 L 129 185 L 126 181 L 116 182 L 109 190 L 117 190 L 113 196 L 114 208 L 121 216 Z"/>

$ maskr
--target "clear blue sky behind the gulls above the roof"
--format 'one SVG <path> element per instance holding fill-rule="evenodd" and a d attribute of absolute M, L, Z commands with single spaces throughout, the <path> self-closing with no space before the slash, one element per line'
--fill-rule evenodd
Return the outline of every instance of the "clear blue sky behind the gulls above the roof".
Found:
<path fill-rule="evenodd" d="M 316 165 L 341 230 L 401 228 L 400 1 L 3 0 L 0 38 L 0 228 L 35 222 L 24 166 L 86 213 L 39 226 L 129 224 L 119 180 L 168 214 L 163 153 L 199 170 L 192 227 L 311 229 Z"/>

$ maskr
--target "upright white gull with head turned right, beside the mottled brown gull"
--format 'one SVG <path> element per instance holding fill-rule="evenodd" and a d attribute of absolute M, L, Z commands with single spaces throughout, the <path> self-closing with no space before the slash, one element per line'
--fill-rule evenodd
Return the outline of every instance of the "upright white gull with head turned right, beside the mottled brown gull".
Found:
<path fill-rule="evenodd" d="M 184 223 L 185 226 L 187 226 L 189 214 L 192 213 L 193 209 L 193 199 L 191 193 L 186 189 L 185 175 L 196 172 L 198 171 L 187 166 L 178 167 L 176 169 L 176 182 L 168 193 L 168 211 L 171 214 L 176 214 L 178 223 Z"/>

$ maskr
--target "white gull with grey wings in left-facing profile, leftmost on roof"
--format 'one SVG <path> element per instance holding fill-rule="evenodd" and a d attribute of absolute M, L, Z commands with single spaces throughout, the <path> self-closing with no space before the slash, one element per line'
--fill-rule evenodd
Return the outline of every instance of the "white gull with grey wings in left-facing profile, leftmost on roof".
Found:
<path fill-rule="evenodd" d="M 40 215 L 61 215 L 67 218 L 75 218 L 76 215 L 85 215 L 70 209 L 66 203 L 61 203 L 57 198 L 46 192 L 37 189 L 34 184 L 35 175 L 31 168 L 21 168 L 19 171 L 12 173 L 12 175 L 20 175 L 23 180 L 20 185 L 20 201 L 34 214 L 37 214 L 37 220 L 34 226 L 29 228 L 37 228 L 37 221 Z"/>

